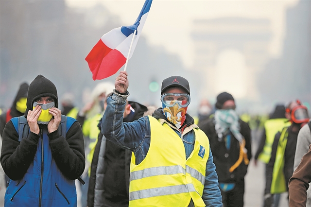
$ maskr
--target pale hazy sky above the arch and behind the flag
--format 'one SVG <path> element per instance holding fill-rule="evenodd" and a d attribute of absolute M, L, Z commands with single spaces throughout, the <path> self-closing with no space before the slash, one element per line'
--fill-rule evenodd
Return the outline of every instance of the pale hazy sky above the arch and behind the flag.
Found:
<path fill-rule="evenodd" d="M 179 54 L 184 64 L 190 67 L 193 60 L 190 38 L 193 19 L 231 16 L 268 18 L 271 20 L 273 33 L 270 54 L 278 57 L 284 40 L 286 8 L 297 2 L 298 0 L 153 0 L 142 35 L 147 37 L 151 45 L 163 46 L 168 52 Z M 112 14 L 121 18 L 120 26 L 127 26 L 135 22 L 144 0 L 67 0 L 67 3 L 80 8 L 102 3 Z"/>

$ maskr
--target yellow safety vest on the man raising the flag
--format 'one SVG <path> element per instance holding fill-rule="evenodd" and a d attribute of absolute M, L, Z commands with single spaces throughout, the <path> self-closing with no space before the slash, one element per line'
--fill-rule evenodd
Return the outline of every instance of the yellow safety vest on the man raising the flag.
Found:
<path fill-rule="evenodd" d="M 167 124 L 149 116 L 150 148 L 138 165 L 131 160 L 129 206 L 187 207 L 192 198 L 196 207 L 205 207 L 205 184 L 209 141 L 194 128 L 194 149 L 186 159 L 182 139 Z"/>

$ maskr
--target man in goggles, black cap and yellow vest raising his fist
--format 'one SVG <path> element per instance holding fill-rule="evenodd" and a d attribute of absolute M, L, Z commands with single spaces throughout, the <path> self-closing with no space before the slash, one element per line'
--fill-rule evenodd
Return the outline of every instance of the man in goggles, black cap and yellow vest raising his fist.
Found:
<path fill-rule="evenodd" d="M 207 136 L 187 114 L 188 81 L 172 76 L 162 82 L 162 108 L 153 116 L 122 122 L 129 96 L 121 71 L 107 98 L 102 133 L 133 152 L 129 206 L 222 207 L 218 177 Z"/>

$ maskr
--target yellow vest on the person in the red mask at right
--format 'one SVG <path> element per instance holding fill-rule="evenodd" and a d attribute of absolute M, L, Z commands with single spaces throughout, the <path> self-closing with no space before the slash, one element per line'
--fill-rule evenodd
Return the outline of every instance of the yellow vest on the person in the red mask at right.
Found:
<path fill-rule="evenodd" d="M 276 149 L 276 161 L 273 166 L 271 194 L 286 192 L 287 183 L 284 176 L 284 154 L 288 138 L 288 126 L 284 127 Z"/>

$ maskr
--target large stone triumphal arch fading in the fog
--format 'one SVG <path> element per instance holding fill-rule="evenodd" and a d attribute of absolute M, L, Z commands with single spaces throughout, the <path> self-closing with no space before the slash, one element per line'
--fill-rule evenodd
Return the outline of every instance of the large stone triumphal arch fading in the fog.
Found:
<path fill-rule="evenodd" d="M 256 76 L 269 60 L 272 37 L 268 19 L 197 19 L 191 37 L 192 70 L 203 71 L 202 94 L 208 98 L 228 91 L 240 99 L 259 99 Z"/>

